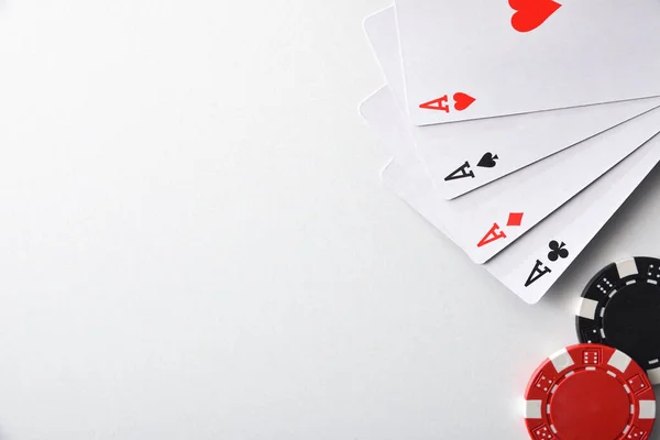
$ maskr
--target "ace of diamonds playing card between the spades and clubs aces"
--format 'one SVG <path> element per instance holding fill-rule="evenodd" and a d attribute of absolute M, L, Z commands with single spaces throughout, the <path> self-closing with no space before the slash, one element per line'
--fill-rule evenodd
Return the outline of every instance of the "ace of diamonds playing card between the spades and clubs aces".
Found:
<path fill-rule="evenodd" d="M 384 88 L 362 106 L 362 114 L 383 138 L 409 124 Z M 660 131 L 660 109 L 618 125 L 542 163 L 532 164 L 448 205 L 447 234 L 476 263 L 484 263 L 524 235 Z"/>

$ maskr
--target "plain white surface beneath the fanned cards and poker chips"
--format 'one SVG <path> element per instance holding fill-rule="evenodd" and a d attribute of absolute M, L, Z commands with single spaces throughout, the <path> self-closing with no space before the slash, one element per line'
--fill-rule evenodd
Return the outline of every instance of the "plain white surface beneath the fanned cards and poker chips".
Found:
<path fill-rule="evenodd" d="M 527 438 L 660 173 L 526 306 L 378 182 L 387 4 L 4 0 L 0 440 Z"/>

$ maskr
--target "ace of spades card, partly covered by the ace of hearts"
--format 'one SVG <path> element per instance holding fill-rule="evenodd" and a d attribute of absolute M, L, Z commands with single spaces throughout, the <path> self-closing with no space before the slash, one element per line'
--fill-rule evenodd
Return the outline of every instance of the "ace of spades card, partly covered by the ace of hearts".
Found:
<path fill-rule="evenodd" d="M 397 102 L 405 108 L 404 72 L 394 8 L 364 29 Z M 454 198 L 660 106 L 660 98 L 411 129 L 438 193 Z"/>

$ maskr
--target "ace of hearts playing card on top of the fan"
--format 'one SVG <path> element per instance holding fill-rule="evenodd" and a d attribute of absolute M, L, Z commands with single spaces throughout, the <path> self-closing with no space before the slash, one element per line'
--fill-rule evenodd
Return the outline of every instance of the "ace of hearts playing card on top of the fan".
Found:
<path fill-rule="evenodd" d="M 660 95 L 658 0 L 396 0 L 415 124 Z"/>

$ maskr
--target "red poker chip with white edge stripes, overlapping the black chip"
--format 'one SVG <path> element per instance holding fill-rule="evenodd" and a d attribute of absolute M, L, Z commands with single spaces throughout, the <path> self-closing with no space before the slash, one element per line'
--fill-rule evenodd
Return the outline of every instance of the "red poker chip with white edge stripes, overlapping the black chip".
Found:
<path fill-rule="evenodd" d="M 569 346 L 547 359 L 525 392 L 534 440 L 646 440 L 656 394 L 645 371 L 606 345 Z"/>

